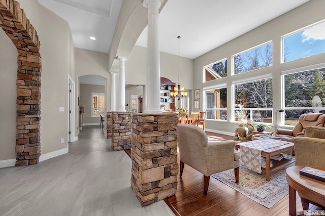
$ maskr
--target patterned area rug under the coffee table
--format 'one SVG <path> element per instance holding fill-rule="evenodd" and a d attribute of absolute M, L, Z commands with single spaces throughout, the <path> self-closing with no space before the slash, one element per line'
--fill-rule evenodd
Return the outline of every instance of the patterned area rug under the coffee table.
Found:
<path fill-rule="evenodd" d="M 264 172 L 257 174 L 257 172 L 242 166 L 239 169 L 239 184 L 235 182 L 234 169 L 219 172 L 212 175 L 212 177 L 255 202 L 271 208 L 288 194 L 285 168 L 271 172 L 269 182 L 266 181 L 266 174 Z"/>

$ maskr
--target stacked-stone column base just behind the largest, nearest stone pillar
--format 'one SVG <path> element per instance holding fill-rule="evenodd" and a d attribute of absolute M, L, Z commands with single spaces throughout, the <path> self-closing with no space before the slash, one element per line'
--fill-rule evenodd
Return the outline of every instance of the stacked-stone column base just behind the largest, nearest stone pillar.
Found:
<path fill-rule="evenodd" d="M 112 112 L 112 149 L 131 149 L 131 112 Z"/>

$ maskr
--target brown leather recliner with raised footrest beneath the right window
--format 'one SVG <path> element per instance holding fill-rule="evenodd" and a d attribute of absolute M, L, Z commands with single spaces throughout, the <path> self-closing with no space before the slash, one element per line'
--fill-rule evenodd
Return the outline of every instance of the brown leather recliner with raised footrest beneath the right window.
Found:
<path fill-rule="evenodd" d="M 325 114 L 321 113 L 305 113 L 302 114 L 295 127 L 290 129 L 276 129 L 276 136 L 283 141 L 294 142 L 295 137 L 303 137 L 304 130 L 307 126 L 323 127 L 325 122 Z"/>

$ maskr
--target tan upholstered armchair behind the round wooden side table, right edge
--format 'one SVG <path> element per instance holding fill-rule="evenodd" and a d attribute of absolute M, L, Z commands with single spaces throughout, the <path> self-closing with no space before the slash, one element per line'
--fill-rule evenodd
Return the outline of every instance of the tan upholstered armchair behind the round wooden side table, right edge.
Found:
<path fill-rule="evenodd" d="M 325 167 L 325 128 L 307 126 L 305 137 L 297 137 L 294 140 L 296 165 Z M 309 203 L 320 206 L 313 200 L 308 200 L 301 194 L 303 209 L 308 209 Z M 320 206 L 324 208 L 324 206 Z"/>

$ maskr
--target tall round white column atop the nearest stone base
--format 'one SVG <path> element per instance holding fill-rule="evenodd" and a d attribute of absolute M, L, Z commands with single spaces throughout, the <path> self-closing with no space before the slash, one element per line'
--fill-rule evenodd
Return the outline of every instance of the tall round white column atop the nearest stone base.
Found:
<path fill-rule="evenodd" d="M 159 15 L 158 10 L 164 0 L 144 0 L 148 8 L 148 69 L 145 113 L 162 113 L 160 109 L 160 55 L 159 55 Z"/>

